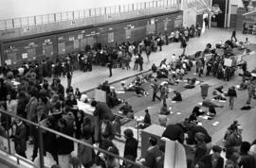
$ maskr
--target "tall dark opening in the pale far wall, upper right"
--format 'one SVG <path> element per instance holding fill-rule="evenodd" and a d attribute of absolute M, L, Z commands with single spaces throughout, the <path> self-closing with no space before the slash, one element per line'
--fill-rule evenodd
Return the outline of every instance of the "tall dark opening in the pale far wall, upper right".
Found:
<path fill-rule="evenodd" d="M 224 27 L 227 0 L 212 0 L 211 26 Z"/>

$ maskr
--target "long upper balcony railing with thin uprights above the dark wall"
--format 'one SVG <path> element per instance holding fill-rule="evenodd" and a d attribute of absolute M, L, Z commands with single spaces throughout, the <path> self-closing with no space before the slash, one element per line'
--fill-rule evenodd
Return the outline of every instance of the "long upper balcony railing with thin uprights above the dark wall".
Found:
<path fill-rule="evenodd" d="M 127 13 L 130 13 L 127 15 L 127 17 L 129 17 L 131 13 L 133 17 L 136 17 L 141 14 L 149 15 L 152 13 L 161 13 L 163 12 L 163 8 L 168 8 L 168 11 L 175 11 L 179 9 L 179 3 L 179 0 L 154 0 L 150 2 L 140 2 L 113 7 L 88 8 L 82 10 L 65 11 L 45 15 L 13 18 L 7 20 L 0 20 L 0 30 L 9 30 L 13 28 L 21 28 L 36 25 L 46 25 L 64 21 L 75 22 L 77 20 L 90 20 L 93 18 L 99 19 L 99 17 L 103 17 L 103 20 L 100 20 L 101 23 L 104 23 L 112 20 L 125 19 L 124 16 Z"/>

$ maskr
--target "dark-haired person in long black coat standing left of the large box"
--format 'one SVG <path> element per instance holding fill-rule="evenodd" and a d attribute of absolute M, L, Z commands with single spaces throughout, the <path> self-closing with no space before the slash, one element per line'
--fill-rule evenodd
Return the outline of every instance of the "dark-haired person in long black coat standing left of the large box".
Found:
<path fill-rule="evenodd" d="M 123 134 L 126 139 L 123 157 L 127 158 L 128 156 L 132 156 L 130 159 L 135 161 L 137 159 L 137 140 L 134 138 L 133 130 L 129 128 L 125 129 Z"/>

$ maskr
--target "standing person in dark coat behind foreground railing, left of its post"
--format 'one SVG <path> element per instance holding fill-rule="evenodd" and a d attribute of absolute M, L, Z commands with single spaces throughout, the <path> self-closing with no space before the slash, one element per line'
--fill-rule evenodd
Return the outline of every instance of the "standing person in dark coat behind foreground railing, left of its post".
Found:
<path fill-rule="evenodd" d="M 22 117 L 20 115 L 20 117 Z M 15 150 L 18 155 L 27 159 L 27 127 L 20 119 L 16 119 L 16 132 L 14 135 Z"/>

